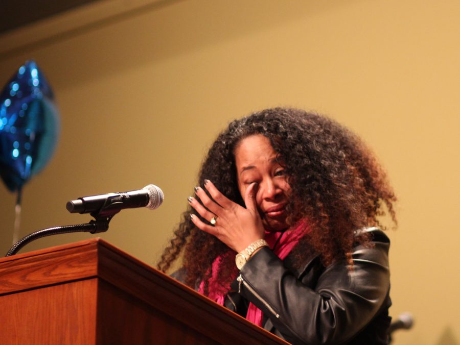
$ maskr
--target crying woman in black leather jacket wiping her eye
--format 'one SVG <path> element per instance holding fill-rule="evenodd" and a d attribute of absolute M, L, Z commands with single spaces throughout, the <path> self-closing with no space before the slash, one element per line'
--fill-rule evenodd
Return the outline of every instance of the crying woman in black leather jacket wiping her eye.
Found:
<path fill-rule="evenodd" d="M 387 343 L 396 197 L 365 145 L 297 109 L 233 121 L 158 267 L 292 343 Z M 238 254 L 237 254 L 238 253 Z"/>

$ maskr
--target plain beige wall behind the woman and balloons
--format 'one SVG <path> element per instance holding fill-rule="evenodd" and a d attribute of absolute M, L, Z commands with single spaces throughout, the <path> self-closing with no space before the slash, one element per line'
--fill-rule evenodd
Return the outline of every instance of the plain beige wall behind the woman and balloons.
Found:
<path fill-rule="evenodd" d="M 113 0 L 0 37 L 0 85 L 35 58 L 61 111 L 56 154 L 24 189 L 20 235 L 88 221 L 65 210 L 78 196 L 154 183 L 161 208 L 123 211 L 101 235 L 154 263 L 229 120 L 315 110 L 369 142 L 399 195 L 391 312 L 411 311 L 416 324 L 395 344 L 457 344 L 458 18 L 456 0 Z M 15 196 L 3 184 L 0 196 L 6 252 Z"/>

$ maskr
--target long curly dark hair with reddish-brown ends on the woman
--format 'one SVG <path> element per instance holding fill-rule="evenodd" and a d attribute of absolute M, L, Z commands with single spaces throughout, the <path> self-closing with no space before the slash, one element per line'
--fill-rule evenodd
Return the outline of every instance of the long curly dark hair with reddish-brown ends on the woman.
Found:
<path fill-rule="evenodd" d="M 325 266 L 343 259 L 352 265 L 354 244 L 371 240 L 366 234 L 357 237 L 356 230 L 369 226 L 385 229 L 378 218 L 386 213 L 396 226 L 396 196 L 372 152 L 338 122 L 300 109 L 266 109 L 231 122 L 211 146 L 198 184 L 209 179 L 228 199 L 244 206 L 234 152 L 242 139 L 255 134 L 270 140 L 285 165 L 291 187 L 287 223 L 307 219 L 311 229 L 293 249 L 295 262 L 302 264 L 308 249 L 313 248 Z M 208 281 L 212 263 L 221 256 L 218 280 L 225 288 L 237 274 L 235 253 L 196 228 L 189 216 L 192 212 L 189 206 L 182 214 L 158 268 L 166 272 L 183 251 L 185 282 L 195 287 Z M 207 289 L 205 284 L 205 293 Z"/>

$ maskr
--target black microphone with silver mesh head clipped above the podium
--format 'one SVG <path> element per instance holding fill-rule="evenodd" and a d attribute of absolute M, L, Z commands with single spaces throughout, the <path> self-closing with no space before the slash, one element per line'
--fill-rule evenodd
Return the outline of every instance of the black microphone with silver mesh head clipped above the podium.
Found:
<path fill-rule="evenodd" d="M 119 212 L 125 208 L 147 207 L 151 210 L 163 203 L 163 190 L 149 184 L 139 190 L 120 193 L 83 196 L 67 202 L 66 208 L 70 213 L 100 213 L 104 210 Z"/>

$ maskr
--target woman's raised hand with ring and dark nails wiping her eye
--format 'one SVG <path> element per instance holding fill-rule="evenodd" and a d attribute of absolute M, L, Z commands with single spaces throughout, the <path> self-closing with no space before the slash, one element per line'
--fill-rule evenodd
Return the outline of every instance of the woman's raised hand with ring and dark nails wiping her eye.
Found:
<path fill-rule="evenodd" d="M 192 221 L 199 229 L 216 236 L 236 252 L 241 252 L 252 242 L 264 238 L 264 227 L 256 203 L 257 183 L 252 183 L 246 189 L 246 208 L 226 198 L 211 181 L 204 180 L 204 187 L 215 202 L 201 187 L 195 188 L 196 195 L 209 211 L 195 198 L 190 197 L 189 203 L 204 219 L 210 221 L 216 217 L 216 223 L 214 226 L 205 224 L 192 214 Z"/>

